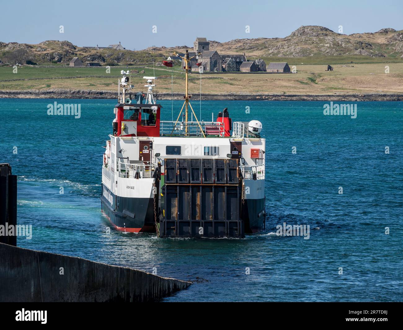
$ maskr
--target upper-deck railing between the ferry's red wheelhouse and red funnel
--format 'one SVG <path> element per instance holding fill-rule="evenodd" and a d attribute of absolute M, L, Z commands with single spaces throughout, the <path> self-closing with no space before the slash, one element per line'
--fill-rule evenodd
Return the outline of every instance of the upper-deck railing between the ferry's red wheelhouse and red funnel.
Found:
<path fill-rule="evenodd" d="M 200 124 L 200 126 L 199 126 Z M 187 134 L 186 134 L 187 127 Z M 200 130 L 200 127 L 202 130 Z M 160 136 L 192 136 L 192 137 L 202 137 L 203 133 L 206 136 L 224 136 L 224 123 L 217 121 L 188 121 L 177 122 L 174 121 L 161 121 L 160 122 Z"/>

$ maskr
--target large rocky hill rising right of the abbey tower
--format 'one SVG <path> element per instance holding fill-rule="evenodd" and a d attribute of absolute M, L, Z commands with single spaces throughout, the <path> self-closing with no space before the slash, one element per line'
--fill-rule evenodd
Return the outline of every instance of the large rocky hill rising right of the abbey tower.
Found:
<path fill-rule="evenodd" d="M 210 49 L 219 53 L 247 53 L 253 56 L 307 57 L 362 55 L 387 57 L 400 52 L 401 31 L 391 28 L 376 33 L 345 35 L 322 26 L 302 26 L 285 38 L 234 39 L 210 41 Z M 168 49 L 168 48 L 167 48 Z"/>

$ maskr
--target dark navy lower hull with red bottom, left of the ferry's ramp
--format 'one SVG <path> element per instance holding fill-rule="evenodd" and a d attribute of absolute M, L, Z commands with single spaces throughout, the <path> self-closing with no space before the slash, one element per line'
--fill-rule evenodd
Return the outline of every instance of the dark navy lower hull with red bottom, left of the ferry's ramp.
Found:
<path fill-rule="evenodd" d="M 124 232 L 155 232 L 154 199 L 114 195 L 102 185 L 102 212 L 115 229 Z"/>

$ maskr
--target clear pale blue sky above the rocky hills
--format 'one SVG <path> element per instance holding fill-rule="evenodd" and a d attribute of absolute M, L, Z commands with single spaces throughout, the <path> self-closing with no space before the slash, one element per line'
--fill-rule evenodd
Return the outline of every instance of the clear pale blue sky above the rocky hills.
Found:
<path fill-rule="evenodd" d="M 301 25 L 322 25 L 343 33 L 403 29 L 403 0 L 391 1 L 87 1 L 2 2 L 0 41 L 37 44 L 69 40 L 77 46 L 126 49 L 192 46 L 196 36 L 220 42 L 285 37 Z M 208 3 L 208 5 L 206 5 Z M 123 4 L 123 7 L 120 7 Z M 64 33 L 59 33 L 59 26 Z M 156 25 L 157 33 L 152 33 Z M 245 25 L 250 33 L 245 33 Z"/>

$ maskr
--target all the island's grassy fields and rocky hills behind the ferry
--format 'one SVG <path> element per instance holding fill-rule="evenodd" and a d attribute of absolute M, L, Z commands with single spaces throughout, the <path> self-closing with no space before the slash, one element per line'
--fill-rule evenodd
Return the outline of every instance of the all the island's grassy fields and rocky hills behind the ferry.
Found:
<path fill-rule="evenodd" d="M 8 63 L 0 64 L 0 89 L 115 91 L 120 71 L 130 69 L 136 90 L 145 90 L 143 76 L 156 75 L 158 92 L 170 93 L 172 88 L 174 93 L 183 93 L 184 72 L 179 61 L 173 69 L 161 66 L 161 61 L 172 51 L 185 49 L 190 48 L 120 51 L 86 49 L 58 40 L 36 45 L 0 42 L 0 60 Z M 248 59 L 263 58 L 267 64 L 288 62 L 297 67 L 298 73 L 208 73 L 201 78 L 202 93 L 205 94 L 403 93 L 403 31 L 382 29 L 375 33 L 343 35 L 326 27 L 303 26 L 284 38 L 212 41 L 210 49 L 218 50 L 220 54 L 245 52 Z M 69 67 L 73 57 L 79 57 L 83 62 L 101 62 L 103 66 Z M 12 73 L 12 64 L 24 60 L 33 65 L 23 65 L 18 73 Z M 325 71 L 327 64 L 333 66 L 334 71 Z M 106 73 L 106 65 L 110 66 L 110 73 Z M 385 73 L 385 65 L 389 66 L 389 73 Z M 199 93 L 199 74 L 190 75 L 189 88 L 191 93 Z"/>

